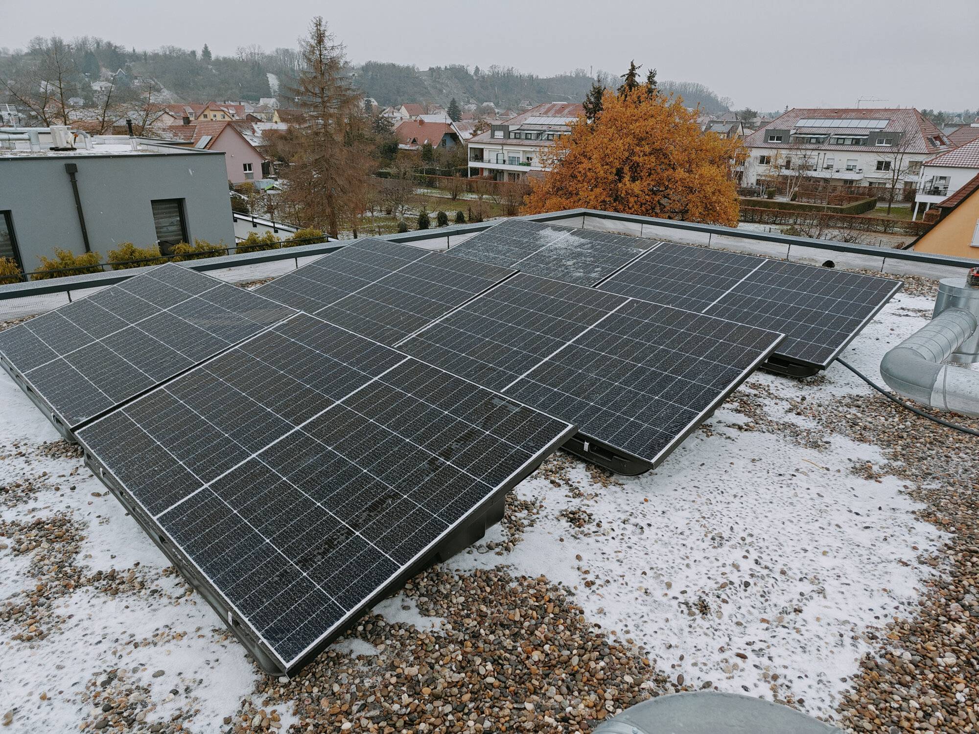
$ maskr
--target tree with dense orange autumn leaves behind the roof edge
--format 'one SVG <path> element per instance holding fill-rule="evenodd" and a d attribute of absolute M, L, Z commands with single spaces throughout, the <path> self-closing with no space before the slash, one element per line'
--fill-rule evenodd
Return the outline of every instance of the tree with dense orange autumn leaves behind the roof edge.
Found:
<path fill-rule="evenodd" d="M 593 121 L 579 118 L 541 157 L 552 169 L 523 213 L 581 206 L 737 226 L 732 169 L 745 148 L 702 132 L 697 115 L 648 84 L 606 90 Z"/>

